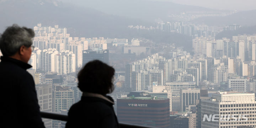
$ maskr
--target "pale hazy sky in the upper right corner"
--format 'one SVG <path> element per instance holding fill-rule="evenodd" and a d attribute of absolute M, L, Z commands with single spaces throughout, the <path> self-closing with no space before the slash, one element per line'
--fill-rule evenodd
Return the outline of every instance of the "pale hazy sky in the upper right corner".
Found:
<path fill-rule="evenodd" d="M 225 10 L 256 10 L 256 0 L 152 0 Z"/>

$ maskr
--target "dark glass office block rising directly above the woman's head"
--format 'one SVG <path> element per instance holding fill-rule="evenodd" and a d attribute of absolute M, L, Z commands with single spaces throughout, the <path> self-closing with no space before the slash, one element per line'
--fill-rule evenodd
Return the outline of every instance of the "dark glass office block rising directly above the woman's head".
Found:
<path fill-rule="evenodd" d="M 82 59 L 83 65 L 95 59 L 101 60 L 102 62 L 108 64 L 108 50 L 102 50 L 101 48 L 84 50 Z"/>

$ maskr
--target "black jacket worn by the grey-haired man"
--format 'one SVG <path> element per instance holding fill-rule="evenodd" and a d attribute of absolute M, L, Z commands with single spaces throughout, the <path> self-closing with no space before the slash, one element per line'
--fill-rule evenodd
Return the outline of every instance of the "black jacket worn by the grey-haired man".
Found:
<path fill-rule="evenodd" d="M 26 71 L 31 67 L 20 60 L 1 57 L 1 128 L 44 128 L 34 80 Z"/>

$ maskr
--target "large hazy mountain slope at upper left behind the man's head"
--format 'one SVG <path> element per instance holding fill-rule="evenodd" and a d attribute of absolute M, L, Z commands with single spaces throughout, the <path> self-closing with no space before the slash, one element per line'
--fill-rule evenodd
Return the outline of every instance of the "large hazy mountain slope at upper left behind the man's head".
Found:
<path fill-rule="evenodd" d="M 55 0 L 4 0 L 0 3 L 0 31 L 14 23 L 33 27 L 37 23 L 66 27 L 73 36 L 116 37 L 131 24 L 146 24 L 139 19 L 105 14 L 92 8 Z M 1 32 L 0 32 L 1 33 Z"/>

